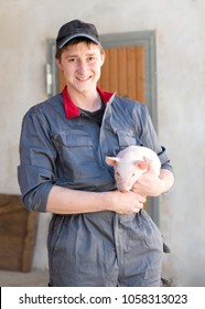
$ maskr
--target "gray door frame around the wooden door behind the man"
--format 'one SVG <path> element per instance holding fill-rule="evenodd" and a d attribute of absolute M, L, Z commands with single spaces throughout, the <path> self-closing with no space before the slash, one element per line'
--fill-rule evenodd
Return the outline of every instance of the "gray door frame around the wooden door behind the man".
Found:
<path fill-rule="evenodd" d="M 133 31 L 123 33 L 101 34 L 100 42 L 104 47 L 144 47 L 144 104 L 147 105 L 153 126 L 158 131 L 158 108 L 157 108 L 157 44 L 155 31 Z M 58 70 L 55 64 L 55 40 L 47 40 L 47 63 L 46 63 L 46 93 L 53 96 L 58 93 Z M 148 198 L 148 213 L 160 225 L 159 198 Z"/>

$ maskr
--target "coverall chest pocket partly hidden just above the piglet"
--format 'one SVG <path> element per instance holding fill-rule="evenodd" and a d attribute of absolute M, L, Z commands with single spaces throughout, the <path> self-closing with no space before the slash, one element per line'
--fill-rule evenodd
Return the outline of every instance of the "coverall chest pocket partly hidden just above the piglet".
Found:
<path fill-rule="evenodd" d="M 142 141 L 133 131 L 117 130 L 119 151 L 128 146 L 142 146 Z"/>

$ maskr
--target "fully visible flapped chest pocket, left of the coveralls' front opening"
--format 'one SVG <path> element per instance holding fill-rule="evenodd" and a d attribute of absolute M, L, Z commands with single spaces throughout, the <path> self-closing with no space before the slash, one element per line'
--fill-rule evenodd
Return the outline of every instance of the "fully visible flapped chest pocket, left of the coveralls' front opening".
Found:
<path fill-rule="evenodd" d="M 58 152 L 60 175 L 72 182 L 100 175 L 96 147 L 87 132 L 61 132 L 53 136 Z"/>

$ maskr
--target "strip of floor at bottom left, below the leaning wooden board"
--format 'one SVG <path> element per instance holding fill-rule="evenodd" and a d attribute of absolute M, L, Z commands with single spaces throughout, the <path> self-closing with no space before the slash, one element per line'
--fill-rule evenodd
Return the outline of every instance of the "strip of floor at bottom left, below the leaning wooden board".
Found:
<path fill-rule="evenodd" d="M 47 270 L 30 273 L 0 270 L 0 287 L 47 287 Z"/>

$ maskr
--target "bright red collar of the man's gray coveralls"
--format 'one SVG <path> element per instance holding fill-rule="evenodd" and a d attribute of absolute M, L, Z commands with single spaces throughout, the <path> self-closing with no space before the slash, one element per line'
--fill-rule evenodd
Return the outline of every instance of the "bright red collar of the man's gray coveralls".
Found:
<path fill-rule="evenodd" d="M 106 93 L 101 90 L 99 87 L 97 87 L 98 94 L 101 97 L 101 100 L 104 104 L 108 103 L 110 97 L 114 95 L 114 93 Z M 79 108 L 73 103 L 73 100 L 69 97 L 69 94 L 67 92 L 67 86 L 64 87 L 62 92 L 63 103 L 64 103 L 64 109 L 65 109 L 65 116 L 67 119 L 79 117 L 80 111 Z"/>

